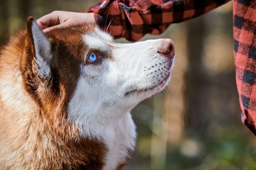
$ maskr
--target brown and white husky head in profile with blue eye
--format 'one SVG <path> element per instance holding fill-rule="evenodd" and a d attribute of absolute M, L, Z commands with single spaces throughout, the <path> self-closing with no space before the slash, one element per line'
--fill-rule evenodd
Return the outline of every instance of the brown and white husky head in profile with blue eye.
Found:
<path fill-rule="evenodd" d="M 25 46 L 27 91 L 42 112 L 63 111 L 78 124 L 109 122 L 131 110 L 167 85 L 173 67 L 172 40 L 119 44 L 94 25 L 45 34 L 29 18 Z"/>

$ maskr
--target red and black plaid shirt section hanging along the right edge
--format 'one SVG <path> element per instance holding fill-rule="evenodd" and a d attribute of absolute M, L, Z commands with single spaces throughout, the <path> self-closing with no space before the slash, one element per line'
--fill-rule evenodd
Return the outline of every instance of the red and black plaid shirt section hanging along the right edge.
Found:
<path fill-rule="evenodd" d="M 256 1 L 234 0 L 234 57 L 242 122 L 256 135 Z"/>

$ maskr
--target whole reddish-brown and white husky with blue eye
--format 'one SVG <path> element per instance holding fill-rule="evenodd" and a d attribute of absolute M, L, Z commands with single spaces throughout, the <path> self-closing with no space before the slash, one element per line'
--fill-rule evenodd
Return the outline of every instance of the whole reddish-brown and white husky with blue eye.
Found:
<path fill-rule="evenodd" d="M 121 169 L 136 145 L 130 111 L 166 86 L 173 41 L 26 25 L 0 51 L 0 169 Z"/>

